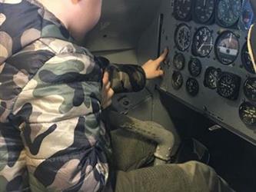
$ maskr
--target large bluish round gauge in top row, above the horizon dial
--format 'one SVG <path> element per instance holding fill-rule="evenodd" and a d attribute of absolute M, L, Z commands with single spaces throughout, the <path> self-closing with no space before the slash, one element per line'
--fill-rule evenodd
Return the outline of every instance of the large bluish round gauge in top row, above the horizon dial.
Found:
<path fill-rule="evenodd" d="M 241 0 L 219 0 L 216 8 L 219 25 L 229 28 L 238 22 L 241 15 Z"/>

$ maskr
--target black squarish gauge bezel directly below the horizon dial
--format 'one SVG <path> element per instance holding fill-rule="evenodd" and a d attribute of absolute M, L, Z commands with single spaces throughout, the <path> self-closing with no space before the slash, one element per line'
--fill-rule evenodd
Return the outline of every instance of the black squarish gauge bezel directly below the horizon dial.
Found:
<path fill-rule="evenodd" d="M 234 92 L 229 95 L 229 96 L 225 96 L 224 94 L 222 94 L 220 88 L 221 88 L 221 79 L 224 77 L 229 76 L 230 78 L 233 79 L 234 84 L 236 84 L 236 87 L 234 88 Z M 238 95 L 239 95 L 239 91 L 240 91 L 240 87 L 241 87 L 241 78 L 237 75 L 237 74 L 232 74 L 229 72 L 221 72 L 220 78 L 218 79 L 218 83 L 217 83 L 217 93 L 223 97 L 223 98 L 227 98 L 229 100 L 237 100 L 238 99 Z"/>

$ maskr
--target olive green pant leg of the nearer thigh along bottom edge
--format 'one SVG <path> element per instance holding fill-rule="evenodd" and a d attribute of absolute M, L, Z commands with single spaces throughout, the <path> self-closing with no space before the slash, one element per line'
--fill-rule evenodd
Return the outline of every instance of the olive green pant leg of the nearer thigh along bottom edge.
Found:
<path fill-rule="evenodd" d="M 118 171 L 115 192 L 234 191 L 207 165 L 196 161 Z"/>

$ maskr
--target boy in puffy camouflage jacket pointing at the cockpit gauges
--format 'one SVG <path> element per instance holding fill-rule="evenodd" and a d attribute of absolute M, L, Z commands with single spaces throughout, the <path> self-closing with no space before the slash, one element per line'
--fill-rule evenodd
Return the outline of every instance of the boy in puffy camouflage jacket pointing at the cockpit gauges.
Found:
<path fill-rule="evenodd" d="M 161 76 L 167 50 L 101 88 L 101 62 L 75 44 L 100 15 L 101 0 L 0 0 L 0 191 L 231 191 L 196 162 L 109 170 L 101 105 Z"/>

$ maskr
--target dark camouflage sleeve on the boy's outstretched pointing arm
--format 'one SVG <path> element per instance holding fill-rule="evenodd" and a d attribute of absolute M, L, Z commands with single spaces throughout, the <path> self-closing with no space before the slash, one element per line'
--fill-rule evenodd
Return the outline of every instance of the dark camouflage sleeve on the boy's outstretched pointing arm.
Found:
<path fill-rule="evenodd" d="M 111 88 L 115 93 L 137 92 L 145 88 L 145 71 L 139 65 L 113 64 L 103 57 L 95 57 L 101 68 L 109 73 Z"/>

